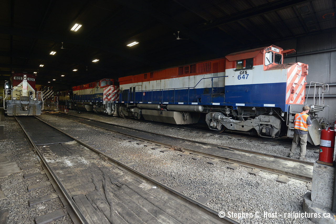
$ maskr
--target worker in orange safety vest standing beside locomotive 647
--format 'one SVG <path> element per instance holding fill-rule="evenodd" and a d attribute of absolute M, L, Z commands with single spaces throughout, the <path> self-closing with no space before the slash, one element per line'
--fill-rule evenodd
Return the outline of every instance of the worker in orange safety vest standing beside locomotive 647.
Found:
<path fill-rule="evenodd" d="M 311 121 L 309 115 L 310 108 L 308 106 L 302 107 L 302 112 L 296 114 L 294 117 L 294 137 L 292 142 L 292 147 L 289 151 L 288 157 L 292 157 L 296 151 L 296 146 L 300 142 L 300 155 L 299 160 L 307 160 L 306 155 L 306 145 L 308 136 L 308 127 L 311 126 Z"/>

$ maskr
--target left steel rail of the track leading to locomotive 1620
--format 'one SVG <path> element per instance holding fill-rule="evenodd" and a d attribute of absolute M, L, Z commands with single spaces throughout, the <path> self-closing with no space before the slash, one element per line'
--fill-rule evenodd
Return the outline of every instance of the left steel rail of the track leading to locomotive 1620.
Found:
<path fill-rule="evenodd" d="M 83 215 L 83 213 L 80 211 L 80 209 L 76 205 L 75 201 L 72 199 L 71 195 L 68 193 L 68 191 L 66 190 L 66 188 L 63 186 L 63 184 L 61 183 L 61 181 L 58 179 L 58 177 L 56 176 L 55 172 L 51 169 L 50 165 L 48 164 L 48 162 L 46 161 L 46 159 L 43 157 L 41 151 L 35 145 L 35 143 L 33 142 L 32 138 L 29 136 L 29 134 L 27 133 L 27 131 L 25 130 L 25 128 L 23 127 L 23 125 L 21 124 L 21 122 L 17 119 L 16 116 L 14 116 L 14 117 L 15 117 L 16 121 L 18 122 L 18 124 L 21 126 L 21 128 L 24 131 L 24 133 L 26 134 L 26 136 L 28 137 L 28 139 L 31 142 L 31 144 L 33 145 L 33 147 L 35 148 L 35 151 L 37 152 L 37 154 L 40 157 L 41 161 L 43 162 L 43 164 L 47 168 L 48 172 L 50 173 L 50 175 L 52 176 L 52 178 L 56 182 L 58 188 L 60 189 L 60 191 L 62 192 L 62 194 L 64 195 L 64 197 L 67 199 L 69 205 L 71 206 L 71 208 L 75 212 L 75 214 L 78 217 L 78 219 L 80 220 L 80 222 L 82 224 L 89 224 L 89 222 L 86 220 L 86 218 Z"/>

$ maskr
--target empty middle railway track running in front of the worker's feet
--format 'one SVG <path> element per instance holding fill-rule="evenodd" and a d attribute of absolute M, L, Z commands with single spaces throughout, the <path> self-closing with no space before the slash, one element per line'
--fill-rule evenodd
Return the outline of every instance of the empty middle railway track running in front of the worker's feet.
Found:
<path fill-rule="evenodd" d="M 189 152 L 192 154 L 205 156 L 207 158 L 229 162 L 235 165 L 250 167 L 252 169 L 258 169 L 278 175 L 284 175 L 306 182 L 312 181 L 312 162 L 300 161 L 284 156 L 255 152 L 246 149 L 227 147 L 224 145 L 216 145 L 194 140 L 187 140 L 168 135 L 151 133 L 148 131 L 140 131 L 134 128 L 94 121 L 73 115 L 54 115 L 81 122 L 93 127 L 109 130 L 116 134 L 130 137 L 133 139 L 153 143 L 155 145 L 172 148 L 175 150 L 180 150 L 182 152 Z"/>

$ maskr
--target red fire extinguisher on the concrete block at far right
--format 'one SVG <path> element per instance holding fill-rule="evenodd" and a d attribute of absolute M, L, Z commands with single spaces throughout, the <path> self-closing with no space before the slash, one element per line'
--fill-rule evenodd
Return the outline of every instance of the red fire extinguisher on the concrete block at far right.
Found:
<path fill-rule="evenodd" d="M 320 154 L 319 160 L 326 163 L 332 163 L 335 147 L 335 131 L 328 129 L 321 130 Z"/>

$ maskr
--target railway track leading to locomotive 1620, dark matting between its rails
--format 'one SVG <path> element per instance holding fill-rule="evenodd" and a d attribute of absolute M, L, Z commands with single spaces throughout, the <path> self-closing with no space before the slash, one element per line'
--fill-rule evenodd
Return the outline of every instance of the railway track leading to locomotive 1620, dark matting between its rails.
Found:
<path fill-rule="evenodd" d="M 95 192 L 93 190 L 93 192 L 95 194 L 93 194 L 92 192 L 86 192 L 87 194 L 85 195 L 85 193 L 83 193 L 83 191 L 89 191 L 87 188 L 90 189 L 90 187 L 93 188 L 93 189 L 97 189 L 97 188 L 99 188 L 99 184 L 97 185 L 97 183 L 96 183 L 97 180 L 93 181 L 94 185 L 92 184 L 92 182 L 86 184 L 86 183 L 84 183 L 85 180 L 83 178 L 86 176 L 86 177 L 91 177 L 93 179 L 93 177 L 97 178 L 96 176 L 101 176 L 102 175 L 103 189 L 100 189 L 100 191 L 103 191 L 102 194 L 105 195 L 104 197 L 106 197 L 108 199 L 108 202 L 94 201 L 93 203 L 96 203 L 96 205 L 98 203 L 104 203 L 104 205 L 110 205 L 110 203 L 112 203 L 112 201 L 115 198 L 110 198 L 109 196 L 107 196 L 108 193 L 113 192 L 116 189 L 122 188 L 121 185 L 122 186 L 127 185 L 127 189 L 132 189 L 132 190 L 138 188 L 137 186 L 134 186 L 134 184 L 132 185 L 132 183 L 122 183 L 122 180 L 124 180 L 125 177 L 123 176 L 124 178 L 121 179 L 121 177 L 120 177 L 120 172 L 121 171 L 127 173 L 127 175 L 132 175 L 132 177 L 126 178 L 127 180 L 130 179 L 130 178 L 133 178 L 133 177 L 134 178 L 140 178 L 140 180 L 135 180 L 134 179 L 134 181 L 140 181 L 139 183 L 141 183 L 143 180 L 145 180 L 146 182 L 148 182 L 150 184 L 154 184 L 156 186 L 159 186 L 160 192 L 163 191 L 165 194 L 173 196 L 175 198 L 175 200 L 181 201 L 181 203 L 183 202 L 182 203 L 183 205 L 176 205 L 175 200 L 170 201 L 170 199 L 167 198 L 167 196 L 164 196 L 164 195 L 163 196 L 159 195 L 160 197 L 162 197 L 161 199 L 158 199 L 158 198 L 151 199 L 151 198 L 153 198 L 153 195 L 147 196 L 146 199 L 148 199 L 149 201 L 143 201 L 143 203 L 149 203 L 149 205 L 141 205 L 140 207 L 145 207 L 146 211 L 153 209 L 153 211 L 151 211 L 152 212 L 151 214 L 159 214 L 158 219 L 162 219 L 162 217 L 160 215 L 161 214 L 160 212 L 164 212 L 164 214 L 165 213 L 168 214 L 169 212 L 171 212 L 171 211 L 168 211 L 168 210 L 176 207 L 174 211 L 172 210 L 173 214 L 168 214 L 168 216 L 170 218 L 172 218 L 173 220 L 176 219 L 175 221 L 173 221 L 173 223 L 196 223 L 196 221 L 197 222 L 202 222 L 202 223 L 238 223 L 237 221 L 229 219 L 227 217 L 219 218 L 218 212 L 210 209 L 209 207 L 205 206 L 204 204 L 202 204 L 202 203 L 200 203 L 200 202 L 198 202 L 198 201 L 196 201 L 196 200 L 194 200 L 190 197 L 187 197 L 187 196 L 183 195 L 178 190 L 169 188 L 168 186 L 160 183 L 159 181 L 157 181 L 157 180 L 155 180 L 155 179 L 153 179 L 153 178 L 151 178 L 147 175 L 144 175 L 143 173 L 141 173 L 139 171 L 134 170 L 130 166 L 127 166 L 126 164 L 123 164 L 122 162 L 113 159 L 108 154 L 104 153 L 103 151 L 100 151 L 99 149 L 94 148 L 93 146 L 90 146 L 89 143 L 87 143 L 85 141 L 78 140 L 74 136 L 71 136 L 71 135 L 69 135 L 69 134 L 67 134 L 67 133 L 65 133 L 65 132 L 47 124 L 46 122 L 42 121 L 41 119 L 39 119 L 37 117 L 20 117 L 20 118 L 16 118 L 16 120 L 18 121 L 20 126 L 23 128 L 24 132 L 28 136 L 28 139 L 31 141 L 33 147 L 37 151 L 38 155 L 40 156 L 40 158 L 43 161 L 43 163 L 45 164 L 45 166 L 48 168 L 48 171 L 52 175 L 52 178 L 55 180 L 55 182 L 57 183 L 57 185 L 61 189 L 64 196 L 67 198 L 69 204 L 71 205 L 72 209 L 74 210 L 75 214 L 77 215 L 77 217 L 81 221 L 81 223 L 97 223 L 97 222 L 108 223 L 108 222 L 106 222 L 106 220 L 103 220 L 103 219 L 98 220 L 99 217 L 101 218 L 103 216 L 106 217 L 107 220 L 110 221 L 110 222 L 113 221 L 113 220 L 116 221 L 119 218 L 119 217 L 116 217 L 116 216 L 112 217 L 112 209 L 111 209 L 111 213 L 107 214 L 106 211 L 104 211 L 104 209 L 101 209 L 99 206 L 97 206 L 98 210 L 102 213 L 100 216 L 95 215 L 96 214 L 95 210 L 93 211 L 93 215 L 85 212 L 85 211 L 89 211 L 89 210 L 87 209 L 88 204 L 87 203 L 85 204 L 83 202 L 83 200 L 85 200 L 86 197 L 89 198 L 89 199 L 95 200 L 96 197 L 97 197 L 97 195 L 96 195 L 97 192 Z M 90 149 L 91 152 L 94 152 L 96 156 L 93 156 L 92 153 L 90 153 L 88 151 L 88 149 Z M 72 160 L 70 160 L 71 156 L 73 156 Z M 98 156 L 100 156 L 100 158 L 103 159 L 102 161 L 108 162 L 109 164 L 113 165 L 114 168 L 111 171 L 111 173 L 108 173 L 108 171 L 106 170 L 107 168 L 106 169 L 101 168 L 101 164 L 99 164 L 99 166 L 97 166 L 97 164 L 95 164 L 95 163 L 97 163 L 97 157 Z M 91 159 L 91 161 L 89 161 L 90 159 Z M 86 160 L 85 166 L 83 166 L 83 160 Z M 58 162 L 55 162 L 55 161 L 58 161 Z M 62 165 L 64 165 L 65 163 L 67 163 L 67 165 L 62 168 Z M 71 165 L 69 165 L 69 164 L 71 164 Z M 92 171 L 96 171 L 96 172 L 95 173 L 93 172 L 92 174 L 89 174 L 89 172 L 88 172 L 89 168 L 87 168 L 87 167 L 93 167 Z M 97 168 L 97 167 L 99 167 L 99 168 Z M 116 171 L 115 168 L 117 168 L 119 171 Z M 118 174 L 113 176 L 113 174 L 115 174 L 115 173 L 118 173 Z M 76 174 L 78 174 L 78 175 L 76 176 Z M 75 176 L 79 179 L 78 180 L 74 179 Z M 112 182 L 112 184 L 111 183 L 107 184 L 107 185 L 104 184 L 104 181 L 106 181 L 107 176 L 110 178 L 110 181 Z M 88 178 L 88 179 L 90 179 L 90 178 Z M 112 179 L 114 179 L 116 182 L 112 181 Z M 111 187 L 111 185 L 113 187 L 114 184 L 117 185 L 117 188 L 116 189 L 110 189 L 110 191 L 109 191 L 108 187 Z M 76 186 L 79 187 L 79 189 L 75 188 L 74 185 L 75 185 L 75 187 Z M 81 186 L 82 186 L 82 188 L 81 188 Z M 98 191 L 98 192 L 100 192 L 100 191 Z M 116 194 L 116 195 L 120 195 L 122 193 L 127 194 L 125 192 L 118 192 L 118 194 Z M 131 194 L 130 192 L 128 192 L 128 193 Z M 141 194 L 145 195 L 145 193 L 146 192 L 143 192 L 143 191 L 136 192 L 134 194 L 134 196 L 135 195 L 138 196 L 138 195 L 141 195 Z M 158 195 L 158 194 L 159 193 L 157 192 L 156 195 Z M 83 195 L 85 195 L 86 197 L 83 196 Z M 84 199 L 83 199 L 83 197 L 84 197 Z M 131 197 L 131 195 L 129 197 Z M 126 195 L 123 196 L 122 199 L 123 199 L 123 201 L 124 200 L 127 201 L 127 196 Z M 142 198 L 142 200 L 143 200 L 143 198 Z M 164 206 L 164 208 L 161 208 L 162 206 L 160 207 L 160 205 L 156 205 L 157 208 L 160 208 L 160 209 L 164 210 L 167 207 L 168 210 L 167 211 L 161 211 L 160 209 L 152 208 L 153 204 L 157 204 L 158 201 L 160 203 L 162 203 L 162 201 L 165 201 L 165 206 Z M 112 203 L 113 206 L 114 206 L 113 208 L 115 210 L 118 210 L 118 205 L 119 204 L 116 203 L 117 201 L 114 201 L 114 202 L 115 203 Z M 184 206 L 185 204 L 187 204 L 188 207 L 185 207 Z M 126 206 L 126 204 L 125 204 L 125 206 Z M 127 205 L 127 206 L 131 206 L 131 205 Z M 178 209 L 177 209 L 177 207 L 178 207 Z M 191 210 L 191 208 L 193 208 L 193 210 Z M 136 210 L 141 210 L 141 209 L 137 208 Z M 123 211 L 123 210 L 120 210 L 118 212 L 120 213 L 121 211 Z M 132 214 L 137 213 L 137 212 L 140 213 L 141 211 L 132 211 Z M 126 213 L 127 213 L 127 211 L 126 211 Z M 149 214 L 148 216 L 151 216 L 151 214 Z M 167 215 L 167 214 L 165 214 L 165 215 Z M 124 215 L 126 215 L 126 214 L 124 214 Z M 89 218 L 88 218 L 88 216 L 89 216 Z M 131 215 L 131 217 L 133 217 L 133 216 L 134 215 Z M 147 216 L 144 216 L 144 217 L 137 216 L 136 218 L 137 218 L 136 220 L 139 221 L 139 219 L 142 219 L 142 218 L 146 219 Z M 162 220 L 155 220 L 154 222 L 153 222 L 153 220 L 151 220 L 151 221 L 141 220 L 141 222 L 146 222 L 146 223 L 157 223 L 158 221 L 162 222 Z M 168 219 L 165 220 L 165 221 L 167 223 L 171 222 L 171 220 L 168 220 Z M 128 222 L 129 223 L 134 223 L 135 220 L 132 220 L 131 218 L 129 218 Z"/>

